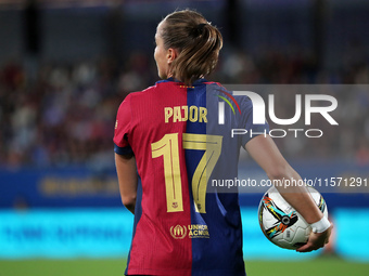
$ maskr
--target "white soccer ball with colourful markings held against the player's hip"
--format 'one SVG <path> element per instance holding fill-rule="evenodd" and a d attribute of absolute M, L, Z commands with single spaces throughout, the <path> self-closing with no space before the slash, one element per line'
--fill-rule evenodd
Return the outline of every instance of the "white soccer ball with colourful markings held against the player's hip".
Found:
<path fill-rule="evenodd" d="M 318 190 L 307 187 L 320 211 L 328 218 L 327 205 Z M 258 222 L 264 235 L 275 245 L 296 249 L 306 244 L 311 226 L 278 193 L 269 188 L 258 207 Z"/>

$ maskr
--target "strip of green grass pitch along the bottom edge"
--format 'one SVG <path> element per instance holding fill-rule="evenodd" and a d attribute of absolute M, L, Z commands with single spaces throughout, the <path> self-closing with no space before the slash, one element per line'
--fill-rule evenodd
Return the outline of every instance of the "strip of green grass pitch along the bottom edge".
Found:
<path fill-rule="evenodd" d="M 123 275 L 124 259 L 0 260 L 0 276 L 115 276 Z M 247 276 L 367 276 L 369 263 L 339 258 L 318 258 L 304 262 L 246 261 Z"/>

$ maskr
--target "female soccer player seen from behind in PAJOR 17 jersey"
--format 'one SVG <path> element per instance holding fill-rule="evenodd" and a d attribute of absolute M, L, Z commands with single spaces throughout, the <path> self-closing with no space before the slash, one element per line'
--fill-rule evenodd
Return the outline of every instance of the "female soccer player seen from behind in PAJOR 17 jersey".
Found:
<path fill-rule="evenodd" d="M 245 275 L 237 193 L 211 180 L 237 178 L 243 146 L 271 180 L 300 179 L 268 135 L 253 124 L 252 102 L 232 96 L 209 74 L 222 47 L 219 30 L 190 10 L 157 26 L 154 58 L 163 79 L 122 103 L 115 126 L 115 161 L 122 201 L 135 214 L 126 275 Z M 219 102 L 234 101 L 238 113 Z M 138 175 L 141 181 L 138 181 Z M 233 190 L 232 190 L 233 192 Z M 294 193 L 290 193 L 294 192 Z M 300 252 L 328 241 L 331 225 L 309 194 L 281 190 L 315 233 Z"/>

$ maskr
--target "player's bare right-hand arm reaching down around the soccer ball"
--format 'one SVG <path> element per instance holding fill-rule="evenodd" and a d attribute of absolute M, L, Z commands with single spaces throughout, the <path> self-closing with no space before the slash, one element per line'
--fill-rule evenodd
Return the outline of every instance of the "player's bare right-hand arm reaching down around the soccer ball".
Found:
<path fill-rule="evenodd" d="M 287 162 L 270 136 L 256 136 L 245 145 L 245 148 L 270 180 L 301 179 L 298 173 Z M 278 186 L 277 189 L 307 223 L 317 223 L 322 219 L 323 214 L 315 205 L 306 187 Z M 332 225 L 322 233 L 311 233 L 307 244 L 298 248 L 297 251 L 309 252 L 323 247 L 328 242 L 331 228 Z"/>

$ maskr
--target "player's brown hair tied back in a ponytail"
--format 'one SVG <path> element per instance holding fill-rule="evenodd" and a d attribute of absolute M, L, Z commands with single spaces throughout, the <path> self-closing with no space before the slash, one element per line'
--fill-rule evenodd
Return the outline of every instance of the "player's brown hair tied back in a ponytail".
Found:
<path fill-rule="evenodd" d="M 170 67 L 174 78 L 191 84 L 213 71 L 222 47 L 221 34 L 215 26 L 202 14 L 191 10 L 170 13 L 162 24 L 160 35 L 164 47 L 178 51 Z"/>

